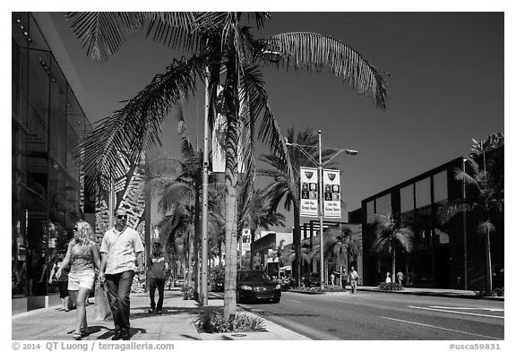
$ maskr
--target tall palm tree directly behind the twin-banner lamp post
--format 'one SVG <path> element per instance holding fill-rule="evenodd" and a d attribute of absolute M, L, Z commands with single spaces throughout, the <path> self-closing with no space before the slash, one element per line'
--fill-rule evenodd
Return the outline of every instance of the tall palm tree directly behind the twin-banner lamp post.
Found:
<path fill-rule="evenodd" d="M 271 204 L 271 210 L 276 211 L 281 202 L 283 202 L 285 210 L 293 210 L 293 247 L 294 252 L 296 253 L 296 259 L 294 262 L 294 279 L 298 285 L 301 277 L 300 167 L 311 166 L 314 164 L 314 159 L 319 159 L 319 150 L 317 148 L 319 137 L 312 128 L 307 128 L 305 131 L 297 133 L 296 137 L 294 128 L 290 127 L 286 138 L 288 142 L 296 143 L 300 146 L 313 147 L 289 148 L 288 159 L 281 158 L 277 154 L 262 155 L 260 159 L 270 168 L 259 169 L 257 174 L 272 178 L 271 184 L 264 190 L 264 196 Z M 335 151 L 333 150 L 323 150 L 323 162 L 331 159 L 334 154 Z M 287 160 L 290 162 L 288 163 Z M 330 163 L 329 165 L 333 164 Z M 294 179 L 294 182 L 292 182 L 292 178 Z"/>

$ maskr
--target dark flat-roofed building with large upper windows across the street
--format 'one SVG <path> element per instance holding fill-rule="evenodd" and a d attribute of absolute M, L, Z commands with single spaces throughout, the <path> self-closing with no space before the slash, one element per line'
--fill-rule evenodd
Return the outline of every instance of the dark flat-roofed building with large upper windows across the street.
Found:
<path fill-rule="evenodd" d="M 400 214 L 404 226 L 412 228 L 414 249 L 397 251 L 396 270 L 405 275 L 404 284 L 418 288 L 486 288 L 485 238 L 477 233 L 478 219 L 472 214 L 459 214 L 443 225 L 439 208 L 447 200 L 461 198 L 466 192 L 454 179 L 454 168 L 463 169 L 463 158 L 453 159 L 440 167 L 413 177 L 362 201 L 362 208 L 350 215 L 351 221 L 362 223 L 364 253 L 364 285 L 376 286 L 391 271 L 391 256 L 374 253 L 374 215 Z M 358 217 L 359 214 L 359 217 Z M 503 269 L 503 221 L 496 223 L 491 238 L 492 268 Z M 493 287 L 503 282 L 493 278 Z"/>

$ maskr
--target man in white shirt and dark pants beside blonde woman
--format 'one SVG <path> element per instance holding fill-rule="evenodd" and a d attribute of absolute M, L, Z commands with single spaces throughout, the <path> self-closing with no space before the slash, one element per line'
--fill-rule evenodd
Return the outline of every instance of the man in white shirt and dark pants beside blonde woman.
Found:
<path fill-rule="evenodd" d="M 140 281 L 145 279 L 143 244 L 138 232 L 127 227 L 126 210 L 117 209 L 115 216 L 115 228 L 106 231 L 100 245 L 102 260 L 99 280 L 106 280 L 107 300 L 115 323 L 115 335 L 111 339 L 131 339 L 129 295 L 135 271 L 138 272 Z M 138 262 L 139 270 L 135 262 Z"/>

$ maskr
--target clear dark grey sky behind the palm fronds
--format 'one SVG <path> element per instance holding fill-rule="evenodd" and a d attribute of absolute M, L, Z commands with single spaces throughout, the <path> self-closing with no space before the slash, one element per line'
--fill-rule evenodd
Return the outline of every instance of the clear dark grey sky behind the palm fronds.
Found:
<path fill-rule="evenodd" d="M 139 36 L 107 64 L 86 57 L 62 13 L 56 28 L 88 96 L 90 120 L 132 98 L 174 53 Z M 340 39 L 391 73 L 386 111 L 326 74 L 267 69 L 272 110 L 283 130 L 322 130 L 323 147 L 358 150 L 337 157 L 348 210 L 368 196 L 468 154 L 471 139 L 504 132 L 503 13 L 272 13 L 258 37 L 312 31 Z M 202 137 L 203 88 L 185 107 L 187 128 Z M 178 157 L 176 124 L 168 119 L 163 145 Z M 262 152 L 262 148 L 258 149 Z M 265 180 L 258 180 L 263 186 Z M 303 219 L 307 220 L 307 219 Z M 291 225 L 292 219 L 288 219 Z M 153 219 L 155 222 L 155 219 Z"/>

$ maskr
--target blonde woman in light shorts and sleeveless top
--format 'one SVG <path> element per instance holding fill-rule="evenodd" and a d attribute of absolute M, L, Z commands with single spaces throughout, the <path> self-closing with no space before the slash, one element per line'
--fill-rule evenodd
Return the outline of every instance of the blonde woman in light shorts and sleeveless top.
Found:
<path fill-rule="evenodd" d="M 77 306 L 77 319 L 73 339 L 82 339 L 89 335 L 88 322 L 86 320 L 86 300 L 90 295 L 95 279 L 95 267 L 100 268 L 99 246 L 93 239 L 93 229 L 84 220 L 79 220 L 73 228 L 73 238 L 68 244 L 61 268 L 70 263 L 68 274 L 68 291 L 75 296 Z M 57 270 L 56 277 L 61 276 L 61 268 Z"/>

